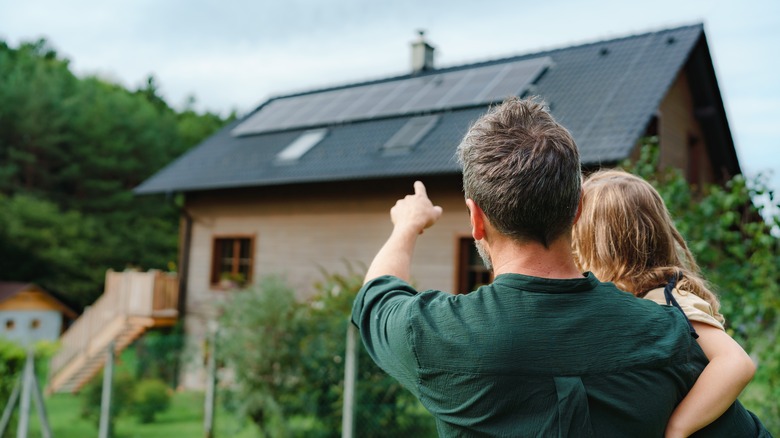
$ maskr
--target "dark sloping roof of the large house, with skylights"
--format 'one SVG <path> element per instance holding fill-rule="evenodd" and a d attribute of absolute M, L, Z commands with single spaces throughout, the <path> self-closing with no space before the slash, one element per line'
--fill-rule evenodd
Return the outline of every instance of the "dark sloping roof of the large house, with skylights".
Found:
<path fill-rule="evenodd" d="M 703 26 L 693 25 L 278 97 L 190 150 L 136 192 L 460 173 L 454 153 L 461 138 L 503 98 L 484 92 L 489 81 L 464 78 L 490 73 L 501 80 L 497 72 L 523 69 L 522 77 L 510 81 L 515 90 L 510 94 L 545 99 L 571 131 L 584 164 L 613 163 L 628 157 L 701 39 Z M 434 93 L 436 81 L 447 85 Z M 481 87 L 467 93 L 470 100 L 445 97 L 468 84 Z M 375 96 L 389 89 L 395 90 L 392 98 Z M 415 91 L 405 95 L 403 90 Z M 407 153 L 385 153 L 384 145 L 422 114 L 438 119 L 419 143 Z M 312 128 L 328 133 L 294 163 L 275 163 Z"/>

